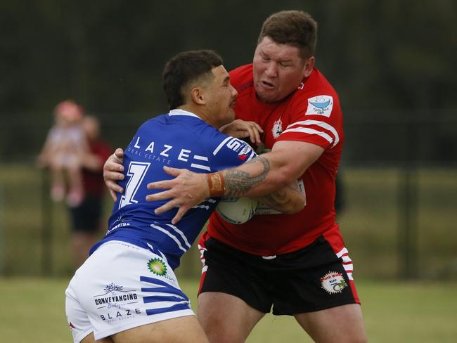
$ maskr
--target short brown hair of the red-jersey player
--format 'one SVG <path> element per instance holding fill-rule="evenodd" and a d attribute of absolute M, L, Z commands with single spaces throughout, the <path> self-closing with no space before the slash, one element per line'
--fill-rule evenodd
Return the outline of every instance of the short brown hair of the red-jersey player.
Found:
<path fill-rule="evenodd" d="M 316 52 L 317 23 L 306 12 L 281 11 L 266 18 L 257 44 L 264 37 L 270 37 L 277 44 L 295 46 L 302 58 L 310 58 Z"/>

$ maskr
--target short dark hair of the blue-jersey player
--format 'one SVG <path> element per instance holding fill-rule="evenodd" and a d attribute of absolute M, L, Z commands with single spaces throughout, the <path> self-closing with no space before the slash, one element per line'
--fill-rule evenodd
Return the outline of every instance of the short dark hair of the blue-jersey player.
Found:
<path fill-rule="evenodd" d="M 222 63 L 221 56 L 212 50 L 185 51 L 169 60 L 162 77 L 169 109 L 184 105 L 185 87 L 202 76 L 214 77 L 211 70 Z"/>

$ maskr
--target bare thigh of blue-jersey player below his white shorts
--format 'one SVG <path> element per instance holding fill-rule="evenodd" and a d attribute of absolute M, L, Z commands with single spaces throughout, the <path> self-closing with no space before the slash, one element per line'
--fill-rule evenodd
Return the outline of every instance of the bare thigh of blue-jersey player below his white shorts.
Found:
<path fill-rule="evenodd" d="M 115 343 L 208 342 L 205 332 L 195 316 L 184 316 L 141 325 L 112 335 L 111 338 Z"/>

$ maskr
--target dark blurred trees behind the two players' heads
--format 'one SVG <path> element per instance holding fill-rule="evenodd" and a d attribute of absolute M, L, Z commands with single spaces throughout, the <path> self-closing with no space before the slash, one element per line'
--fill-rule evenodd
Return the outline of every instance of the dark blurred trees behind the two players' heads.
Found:
<path fill-rule="evenodd" d="M 228 70 L 250 63 L 263 20 L 283 9 L 308 11 L 318 22 L 316 65 L 340 93 L 347 122 L 422 122 L 420 134 L 430 139 L 420 160 L 456 160 L 448 123 L 457 108 L 453 0 L 1 1 L 0 114 L 8 127 L 1 125 L 0 156 L 37 153 L 53 107 L 65 98 L 105 124 L 136 127 L 165 112 L 168 58 L 213 48 Z M 18 145 L 21 129 L 28 134 Z M 131 132 L 121 131 L 108 136 L 123 146 Z M 368 136 L 386 134 L 378 123 Z M 378 144 L 373 161 L 404 157 L 395 136 L 405 132 L 390 134 L 391 147 L 371 141 Z M 346 160 L 366 158 L 366 149 L 348 144 Z"/>

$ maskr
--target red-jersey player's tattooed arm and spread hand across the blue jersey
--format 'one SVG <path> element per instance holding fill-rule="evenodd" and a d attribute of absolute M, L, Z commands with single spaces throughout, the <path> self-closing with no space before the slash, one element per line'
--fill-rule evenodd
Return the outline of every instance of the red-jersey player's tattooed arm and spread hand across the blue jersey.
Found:
<path fill-rule="evenodd" d="M 218 176 L 225 181 L 225 196 L 258 198 L 276 192 L 273 200 L 278 202 L 283 197 L 281 192 L 284 192 L 292 181 L 297 180 L 322 153 L 323 148 L 318 145 L 300 141 L 280 141 L 273 145 L 270 153 L 215 174 L 219 174 Z M 148 195 L 146 200 L 171 199 L 155 209 L 155 212 L 160 214 L 179 207 L 172 221 L 176 224 L 188 209 L 210 198 L 212 193 L 207 182 L 208 174 L 196 174 L 187 169 L 168 167 L 165 167 L 165 171 L 176 178 L 149 183 L 148 189 L 166 190 Z M 269 201 L 267 205 L 271 205 L 271 200 L 272 198 L 262 202 Z"/>

